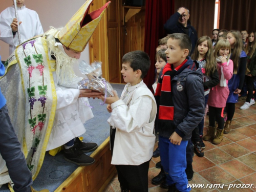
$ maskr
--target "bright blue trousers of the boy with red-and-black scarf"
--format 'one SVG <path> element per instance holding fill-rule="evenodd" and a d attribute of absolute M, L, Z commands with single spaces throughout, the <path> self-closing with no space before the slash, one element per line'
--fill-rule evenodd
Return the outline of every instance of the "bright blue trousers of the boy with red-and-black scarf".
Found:
<path fill-rule="evenodd" d="M 176 183 L 177 189 L 182 192 L 191 190 L 190 187 L 187 188 L 185 173 L 187 143 L 188 141 L 181 141 L 180 145 L 175 145 L 169 138 L 159 136 L 161 164 L 166 174 L 166 181 L 168 185 Z"/>

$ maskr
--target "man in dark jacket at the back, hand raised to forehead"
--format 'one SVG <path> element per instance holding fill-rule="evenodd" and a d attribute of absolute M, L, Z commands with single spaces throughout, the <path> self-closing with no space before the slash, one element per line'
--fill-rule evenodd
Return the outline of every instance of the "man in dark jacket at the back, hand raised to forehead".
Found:
<path fill-rule="evenodd" d="M 189 10 L 185 7 L 180 7 L 176 13 L 174 13 L 167 22 L 164 24 L 164 29 L 168 34 L 172 33 L 185 33 L 189 36 L 192 44 L 192 50 L 190 55 L 193 53 L 197 44 L 197 31 L 190 25 Z M 190 56 L 189 55 L 189 56 Z"/>

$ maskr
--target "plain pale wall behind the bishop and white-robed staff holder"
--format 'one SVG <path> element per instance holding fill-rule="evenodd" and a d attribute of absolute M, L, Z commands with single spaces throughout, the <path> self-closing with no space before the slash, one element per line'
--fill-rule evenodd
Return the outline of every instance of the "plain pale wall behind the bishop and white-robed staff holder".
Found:
<path fill-rule="evenodd" d="M 25 5 L 27 8 L 37 12 L 42 28 L 44 31 L 48 31 L 50 26 L 55 28 L 64 27 L 84 2 L 86 0 L 25 0 Z M 12 6 L 13 3 L 12 0 L 0 0 L 0 5 L 0 12 L 2 12 L 7 7 Z M 0 40 L 0 47 L 2 60 L 6 60 L 9 57 L 9 46 Z M 89 44 L 82 52 L 80 60 L 90 63 Z M 77 66 L 74 66 L 74 71 L 77 75 L 80 75 Z"/>

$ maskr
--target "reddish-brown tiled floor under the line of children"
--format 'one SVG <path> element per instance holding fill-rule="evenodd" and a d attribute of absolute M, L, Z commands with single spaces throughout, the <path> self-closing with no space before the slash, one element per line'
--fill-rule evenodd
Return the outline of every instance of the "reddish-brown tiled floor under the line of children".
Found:
<path fill-rule="evenodd" d="M 247 110 L 240 110 L 245 98 L 236 103 L 229 134 L 224 134 L 223 141 L 214 145 L 205 141 L 204 157 L 196 155 L 193 158 L 194 178 L 190 184 L 253 184 L 252 188 L 193 188 L 191 191 L 256 191 L 256 105 Z M 208 117 L 205 119 L 208 125 Z M 206 133 L 206 126 L 204 127 Z M 148 170 L 148 190 L 163 192 L 151 180 L 157 176 L 160 169 L 155 164 L 160 157 L 152 158 Z M 238 185 L 239 186 L 239 185 Z M 248 185 L 245 185 L 246 187 Z M 253 188 L 255 187 L 255 188 Z M 104 192 L 120 191 L 117 176 L 105 188 Z"/>

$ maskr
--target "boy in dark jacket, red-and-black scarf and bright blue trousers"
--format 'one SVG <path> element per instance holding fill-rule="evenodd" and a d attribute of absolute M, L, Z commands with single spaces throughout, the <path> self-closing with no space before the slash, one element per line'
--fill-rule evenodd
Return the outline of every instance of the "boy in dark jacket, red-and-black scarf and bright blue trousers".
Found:
<path fill-rule="evenodd" d="M 186 177 L 186 146 L 204 116 L 201 69 L 190 59 L 191 41 L 186 34 L 168 35 L 163 75 L 155 94 L 156 133 L 168 191 L 190 191 Z"/>

